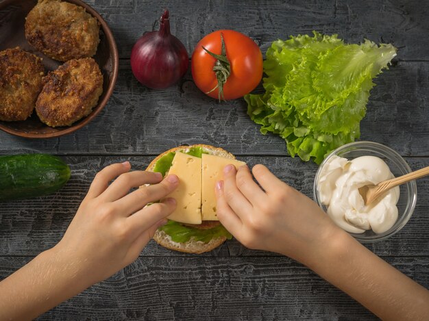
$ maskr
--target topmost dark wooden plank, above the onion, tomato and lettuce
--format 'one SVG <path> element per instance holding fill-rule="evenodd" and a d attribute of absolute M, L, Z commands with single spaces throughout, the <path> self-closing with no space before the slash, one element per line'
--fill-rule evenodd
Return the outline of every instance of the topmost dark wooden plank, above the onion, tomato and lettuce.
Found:
<path fill-rule="evenodd" d="M 217 29 L 234 29 L 265 50 L 290 35 L 339 34 L 347 42 L 393 43 L 402 60 L 428 60 L 429 44 L 421 41 L 429 24 L 427 1 L 86 1 L 106 19 L 119 55 L 130 57 L 144 31 L 151 31 L 164 8 L 171 12 L 171 31 L 191 55 L 195 44 Z M 158 27 L 156 28 L 158 29 Z"/>

